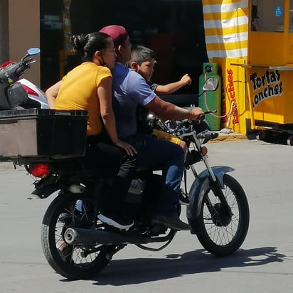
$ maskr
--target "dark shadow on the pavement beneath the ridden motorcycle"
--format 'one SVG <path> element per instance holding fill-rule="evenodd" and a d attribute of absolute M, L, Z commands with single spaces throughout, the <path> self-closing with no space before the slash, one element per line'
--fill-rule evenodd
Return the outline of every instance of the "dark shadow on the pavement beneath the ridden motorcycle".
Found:
<path fill-rule="evenodd" d="M 166 255 L 165 259 L 113 260 L 92 280 L 95 281 L 95 285 L 141 284 L 188 274 L 218 272 L 227 268 L 262 266 L 272 262 L 283 262 L 284 257 L 285 255 L 277 252 L 276 247 L 238 250 L 228 257 L 215 257 L 205 250 L 196 250 L 183 255 Z"/>

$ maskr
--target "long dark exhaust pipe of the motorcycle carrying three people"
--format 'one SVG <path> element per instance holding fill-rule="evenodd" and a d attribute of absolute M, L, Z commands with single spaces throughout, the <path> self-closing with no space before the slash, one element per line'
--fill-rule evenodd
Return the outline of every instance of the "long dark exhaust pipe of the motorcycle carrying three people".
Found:
<path fill-rule="evenodd" d="M 149 238 L 133 234 L 122 235 L 104 230 L 68 228 L 65 230 L 64 240 L 70 245 L 125 245 L 164 242 L 169 240 L 169 238 Z"/>

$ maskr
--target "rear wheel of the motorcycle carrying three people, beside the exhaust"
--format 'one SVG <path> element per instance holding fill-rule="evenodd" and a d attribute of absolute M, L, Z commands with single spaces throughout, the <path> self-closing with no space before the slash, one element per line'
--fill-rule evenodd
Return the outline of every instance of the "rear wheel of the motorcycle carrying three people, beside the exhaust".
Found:
<path fill-rule="evenodd" d="M 114 245 L 82 247 L 68 245 L 63 239 L 67 228 L 91 228 L 94 208 L 92 197 L 85 193 L 57 196 L 48 207 L 41 228 L 41 243 L 49 265 L 68 279 L 97 275 L 111 260 Z"/>

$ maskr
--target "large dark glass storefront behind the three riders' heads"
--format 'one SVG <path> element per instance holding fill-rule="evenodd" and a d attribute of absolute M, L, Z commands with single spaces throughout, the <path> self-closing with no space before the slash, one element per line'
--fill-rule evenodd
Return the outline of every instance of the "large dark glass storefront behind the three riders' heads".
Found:
<path fill-rule="evenodd" d="M 63 14 L 68 4 L 69 15 Z M 208 61 L 201 0 L 41 0 L 43 88 L 80 62 L 66 47 L 68 18 L 73 34 L 90 33 L 109 24 L 124 26 L 132 44 L 155 51 L 154 82 L 174 82 L 188 73 L 192 85 L 176 93 L 198 92 L 202 64 Z"/>

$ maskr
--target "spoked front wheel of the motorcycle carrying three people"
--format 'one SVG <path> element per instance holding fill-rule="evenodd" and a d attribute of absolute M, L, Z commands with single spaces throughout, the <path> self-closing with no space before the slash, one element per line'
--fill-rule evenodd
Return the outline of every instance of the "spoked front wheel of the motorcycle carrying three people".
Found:
<path fill-rule="evenodd" d="M 227 215 L 218 196 L 206 190 L 201 205 L 201 245 L 216 256 L 231 255 L 243 244 L 250 222 L 250 211 L 242 186 L 232 176 L 223 176 L 223 193 L 233 215 Z"/>

